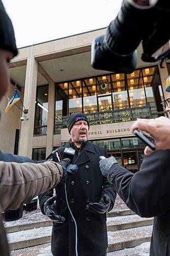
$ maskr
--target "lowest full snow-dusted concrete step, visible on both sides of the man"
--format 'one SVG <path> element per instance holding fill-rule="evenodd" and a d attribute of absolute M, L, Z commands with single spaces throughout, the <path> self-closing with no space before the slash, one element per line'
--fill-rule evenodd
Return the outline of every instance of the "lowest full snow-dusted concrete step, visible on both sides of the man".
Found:
<path fill-rule="evenodd" d="M 108 231 L 108 252 L 140 245 L 151 240 L 152 225 Z M 52 226 L 8 233 L 10 250 L 50 243 Z"/>

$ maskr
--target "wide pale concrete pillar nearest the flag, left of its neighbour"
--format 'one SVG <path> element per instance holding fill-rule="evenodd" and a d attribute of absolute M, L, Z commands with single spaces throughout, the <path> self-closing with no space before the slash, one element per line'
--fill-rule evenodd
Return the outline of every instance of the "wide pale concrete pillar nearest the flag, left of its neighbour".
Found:
<path fill-rule="evenodd" d="M 33 46 L 27 59 L 25 91 L 23 105 L 29 110 L 29 120 L 21 122 L 21 133 L 19 143 L 19 155 L 32 158 L 35 100 L 37 90 L 38 63 L 34 59 Z"/>

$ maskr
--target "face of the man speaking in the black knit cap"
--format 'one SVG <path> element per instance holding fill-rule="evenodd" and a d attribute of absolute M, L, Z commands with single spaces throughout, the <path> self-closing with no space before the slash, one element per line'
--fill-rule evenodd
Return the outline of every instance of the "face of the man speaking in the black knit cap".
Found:
<path fill-rule="evenodd" d="M 71 140 L 81 144 L 83 141 L 87 141 L 88 136 L 88 124 L 86 121 L 77 121 L 70 131 Z"/>

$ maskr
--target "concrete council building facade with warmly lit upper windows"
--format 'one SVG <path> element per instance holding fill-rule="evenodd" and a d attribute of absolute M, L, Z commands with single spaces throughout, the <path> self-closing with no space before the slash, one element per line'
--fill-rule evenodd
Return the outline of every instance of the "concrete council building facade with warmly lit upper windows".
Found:
<path fill-rule="evenodd" d="M 137 118 L 167 116 L 163 99 L 170 64 L 164 61 L 161 69 L 158 62 L 143 62 L 139 45 L 132 74 L 94 70 L 91 42 L 105 32 L 106 28 L 19 49 L 9 63 L 7 96 L 17 89 L 21 101 L 7 114 L 7 98 L 0 103 L 1 150 L 13 153 L 18 129 L 18 154 L 45 158 L 70 138 L 68 115 L 82 112 L 90 121 L 89 140 L 104 146 L 132 172 L 140 168 L 145 145 L 131 133 L 131 125 Z"/>

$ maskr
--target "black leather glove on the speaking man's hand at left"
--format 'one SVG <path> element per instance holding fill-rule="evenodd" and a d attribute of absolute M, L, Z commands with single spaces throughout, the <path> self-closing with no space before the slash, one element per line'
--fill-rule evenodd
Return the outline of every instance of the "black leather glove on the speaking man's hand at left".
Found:
<path fill-rule="evenodd" d="M 43 210 L 46 216 L 48 216 L 52 221 L 57 223 L 64 223 L 65 218 L 58 215 L 54 201 L 56 201 L 57 196 L 48 198 L 44 203 Z"/>

